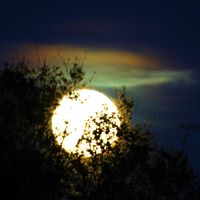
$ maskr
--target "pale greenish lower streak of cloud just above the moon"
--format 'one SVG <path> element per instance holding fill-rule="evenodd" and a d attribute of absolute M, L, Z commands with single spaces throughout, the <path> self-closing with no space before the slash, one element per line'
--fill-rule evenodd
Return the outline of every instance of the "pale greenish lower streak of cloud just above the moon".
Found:
<path fill-rule="evenodd" d="M 134 87 L 142 85 L 155 85 L 164 83 L 192 83 L 192 74 L 189 71 L 127 69 L 115 70 L 115 66 L 107 66 L 109 70 L 99 70 L 95 74 L 91 86 L 93 87 Z M 90 67 L 88 67 L 90 69 Z M 113 69 L 113 70 L 112 70 Z M 87 70 L 86 70 L 87 71 Z M 91 72 L 88 70 L 88 72 Z M 88 73 L 90 77 L 92 73 Z"/>

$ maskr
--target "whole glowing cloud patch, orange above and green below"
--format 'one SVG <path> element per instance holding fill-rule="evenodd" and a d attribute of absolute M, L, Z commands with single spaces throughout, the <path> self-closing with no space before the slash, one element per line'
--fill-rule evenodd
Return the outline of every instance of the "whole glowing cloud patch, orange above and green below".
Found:
<path fill-rule="evenodd" d="M 155 56 L 112 49 L 91 49 L 67 45 L 24 45 L 18 55 L 37 62 L 46 60 L 52 65 L 62 65 L 62 59 L 75 57 L 84 62 L 86 78 L 95 72 L 94 87 L 134 87 L 182 81 L 192 83 L 192 72 L 176 69 Z"/>

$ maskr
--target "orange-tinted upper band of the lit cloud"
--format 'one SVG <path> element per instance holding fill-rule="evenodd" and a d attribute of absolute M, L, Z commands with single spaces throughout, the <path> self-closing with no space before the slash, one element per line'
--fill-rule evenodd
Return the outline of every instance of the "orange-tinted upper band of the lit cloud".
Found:
<path fill-rule="evenodd" d="M 51 63 L 59 62 L 60 57 L 73 59 L 76 56 L 80 59 L 85 57 L 85 63 L 89 65 L 115 65 L 117 68 L 126 66 L 139 69 L 163 68 L 163 64 L 159 60 L 148 55 L 112 49 L 103 50 L 67 45 L 39 45 L 36 48 L 34 45 L 24 45 L 20 53 L 24 53 L 31 60 L 36 60 L 36 55 L 39 53 L 42 60 L 46 59 Z"/>

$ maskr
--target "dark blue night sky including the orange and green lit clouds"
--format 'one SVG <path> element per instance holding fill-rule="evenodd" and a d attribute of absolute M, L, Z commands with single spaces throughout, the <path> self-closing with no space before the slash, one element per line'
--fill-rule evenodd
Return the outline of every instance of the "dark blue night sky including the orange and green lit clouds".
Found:
<path fill-rule="evenodd" d="M 200 172 L 200 4 L 195 1 L 1 1 L 0 62 L 26 54 L 83 57 L 92 87 L 127 86 L 133 120 L 152 119 L 161 144 L 186 150 Z M 153 120 L 154 119 L 154 120 Z"/>

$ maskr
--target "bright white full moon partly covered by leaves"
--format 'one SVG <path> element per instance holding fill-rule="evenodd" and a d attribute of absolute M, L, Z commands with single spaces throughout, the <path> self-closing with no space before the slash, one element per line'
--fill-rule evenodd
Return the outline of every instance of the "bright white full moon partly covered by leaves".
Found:
<path fill-rule="evenodd" d="M 101 153 L 99 142 L 106 145 L 117 140 L 119 126 L 115 104 L 104 94 L 89 89 L 65 95 L 52 116 L 52 130 L 57 142 L 66 151 L 82 153 L 85 157 L 91 156 L 88 149 Z M 97 139 L 94 139 L 95 131 Z"/>

